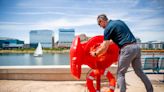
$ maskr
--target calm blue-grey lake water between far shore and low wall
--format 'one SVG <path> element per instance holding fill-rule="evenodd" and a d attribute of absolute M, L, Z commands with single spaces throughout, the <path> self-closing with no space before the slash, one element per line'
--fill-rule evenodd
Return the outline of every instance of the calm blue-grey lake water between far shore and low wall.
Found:
<path fill-rule="evenodd" d="M 145 57 L 164 57 L 164 53 L 142 53 Z M 69 53 L 51 54 L 44 53 L 42 57 L 34 57 L 33 54 L 0 54 L 0 66 L 46 66 L 46 65 L 69 65 Z"/>

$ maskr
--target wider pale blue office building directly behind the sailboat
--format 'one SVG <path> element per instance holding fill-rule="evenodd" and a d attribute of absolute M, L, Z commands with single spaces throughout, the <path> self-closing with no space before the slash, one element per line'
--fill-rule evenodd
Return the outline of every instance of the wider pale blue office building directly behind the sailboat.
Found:
<path fill-rule="evenodd" d="M 30 31 L 30 47 L 36 48 L 40 42 L 43 48 L 52 48 L 53 45 L 52 30 L 31 30 Z"/>

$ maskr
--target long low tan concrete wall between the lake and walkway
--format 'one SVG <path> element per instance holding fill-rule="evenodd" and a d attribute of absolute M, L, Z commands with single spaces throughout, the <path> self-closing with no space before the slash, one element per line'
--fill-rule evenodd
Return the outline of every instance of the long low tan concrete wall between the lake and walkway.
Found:
<path fill-rule="evenodd" d="M 109 68 L 116 74 L 117 65 Z M 80 80 L 85 80 L 90 68 L 82 67 Z M 3 80 L 56 80 L 56 81 L 75 81 L 70 73 L 69 65 L 60 66 L 0 66 L 0 79 Z"/>

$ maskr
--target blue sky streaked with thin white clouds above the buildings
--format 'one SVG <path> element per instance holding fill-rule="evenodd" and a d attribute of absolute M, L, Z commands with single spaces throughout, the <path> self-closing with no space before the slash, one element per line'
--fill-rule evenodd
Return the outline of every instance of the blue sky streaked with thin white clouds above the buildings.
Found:
<path fill-rule="evenodd" d="M 103 35 L 97 16 L 123 20 L 142 42 L 164 41 L 164 0 L 0 0 L 0 37 L 29 43 L 31 30 L 59 28 Z"/>

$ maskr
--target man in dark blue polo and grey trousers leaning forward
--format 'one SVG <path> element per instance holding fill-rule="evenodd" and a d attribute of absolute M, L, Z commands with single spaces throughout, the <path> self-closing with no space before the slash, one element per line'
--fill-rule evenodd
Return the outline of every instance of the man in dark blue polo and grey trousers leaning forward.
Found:
<path fill-rule="evenodd" d="M 104 41 L 99 49 L 90 52 L 94 57 L 107 51 L 110 40 L 113 40 L 120 47 L 120 57 L 118 61 L 117 84 L 120 92 L 126 92 L 125 73 L 130 63 L 137 76 L 144 83 L 147 92 L 153 92 L 153 87 L 148 77 L 141 68 L 141 52 L 136 44 L 136 39 L 128 26 L 121 20 L 108 20 L 105 14 L 97 17 L 97 22 L 104 30 Z"/>

